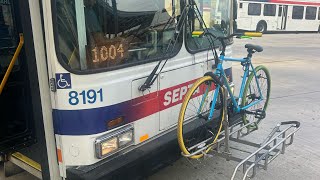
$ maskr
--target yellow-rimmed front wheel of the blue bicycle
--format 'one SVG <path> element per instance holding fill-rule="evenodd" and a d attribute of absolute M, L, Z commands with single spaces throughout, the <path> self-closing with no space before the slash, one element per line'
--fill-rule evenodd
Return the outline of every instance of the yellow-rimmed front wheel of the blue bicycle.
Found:
<path fill-rule="evenodd" d="M 193 84 L 184 97 L 177 136 L 182 153 L 193 154 L 190 156 L 192 159 L 201 158 L 203 153 L 207 153 L 221 131 L 225 113 L 223 89 L 218 87 L 210 76 L 204 76 Z M 213 117 L 209 119 L 212 106 Z M 201 151 L 204 147 L 206 148 Z"/>

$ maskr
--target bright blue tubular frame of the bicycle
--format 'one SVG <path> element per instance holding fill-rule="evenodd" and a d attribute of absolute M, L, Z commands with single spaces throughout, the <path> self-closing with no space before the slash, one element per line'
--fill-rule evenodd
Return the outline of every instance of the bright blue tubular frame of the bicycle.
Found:
<path fill-rule="evenodd" d="M 242 64 L 244 64 L 244 72 L 243 72 L 243 77 L 242 77 L 242 82 L 241 82 L 241 87 L 240 87 L 240 92 L 239 92 L 239 100 L 238 102 L 236 101 L 236 98 L 234 96 L 234 94 L 232 93 L 231 91 L 231 87 L 228 83 L 228 79 L 225 75 L 225 72 L 224 72 L 224 69 L 223 69 L 223 61 L 233 61 L 233 62 L 240 62 Z M 245 88 L 245 85 L 246 85 L 246 81 L 247 81 L 247 78 L 249 77 L 249 72 L 250 72 L 250 68 L 251 68 L 251 71 L 254 73 L 254 77 L 255 77 L 255 80 L 256 80 L 256 84 L 258 86 L 258 90 L 259 90 L 259 94 L 260 94 L 260 98 L 259 100 L 255 100 L 253 101 L 252 103 L 246 105 L 246 106 L 243 106 L 241 107 L 241 101 L 242 101 L 242 96 L 243 96 L 243 93 L 244 93 L 244 88 Z M 231 58 L 231 57 L 225 57 L 224 55 L 220 55 L 219 56 L 219 63 L 217 65 L 217 68 L 216 68 L 216 71 L 215 71 L 215 74 L 218 75 L 220 77 L 220 80 L 221 82 L 224 82 L 224 85 L 227 87 L 227 91 L 230 95 L 230 98 L 233 102 L 233 108 L 234 108 L 234 111 L 236 113 L 240 113 L 241 111 L 243 110 L 246 110 L 258 103 L 260 103 L 261 101 L 264 100 L 264 97 L 262 95 L 262 92 L 261 92 L 261 88 L 260 88 L 260 85 L 258 83 L 258 78 L 257 78 L 257 74 L 256 74 L 256 71 L 251 63 L 251 57 L 246 57 L 246 58 Z M 216 89 L 219 89 L 220 88 L 220 85 L 217 85 Z M 213 117 L 213 112 L 214 112 L 214 107 L 215 107 L 215 104 L 216 104 L 216 100 L 217 100 L 217 96 L 218 96 L 218 92 L 219 91 L 215 91 L 215 94 L 213 96 L 213 102 L 212 105 L 211 105 L 211 108 L 210 108 L 210 114 L 209 114 L 209 120 L 212 119 Z M 202 104 L 202 102 L 201 102 Z"/>

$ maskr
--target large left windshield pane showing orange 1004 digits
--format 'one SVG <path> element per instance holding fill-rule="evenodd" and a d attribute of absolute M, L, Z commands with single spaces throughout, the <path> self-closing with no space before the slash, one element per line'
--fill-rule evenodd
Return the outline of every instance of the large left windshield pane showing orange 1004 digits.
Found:
<path fill-rule="evenodd" d="M 180 0 L 56 0 L 57 54 L 72 70 L 117 69 L 164 58 Z M 172 56 L 182 44 L 179 38 Z"/>

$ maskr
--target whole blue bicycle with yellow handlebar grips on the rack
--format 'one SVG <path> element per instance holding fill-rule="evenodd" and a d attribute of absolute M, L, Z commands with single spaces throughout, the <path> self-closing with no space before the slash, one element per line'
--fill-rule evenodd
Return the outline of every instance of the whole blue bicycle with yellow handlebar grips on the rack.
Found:
<path fill-rule="evenodd" d="M 222 121 L 227 114 L 240 114 L 244 124 L 252 123 L 249 128 L 257 128 L 266 117 L 266 109 L 270 97 L 271 78 L 265 66 L 252 65 L 252 56 L 262 52 L 258 45 L 246 44 L 248 55 L 245 58 L 231 58 L 225 56 L 225 41 L 236 36 L 248 38 L 261 36 L 261 33 L 235 33 L 227 37 L 216 37 L 210 32 L 195 32 L 195 36 L 207 37 L 213 42 L 221 42 L 222 51 L 218 57 L 215 48 L 212 48 L 216 68 L 214 72 L 207 72 L 198 79 L 188 90 L 181 106 L 177 136 L 182 153 L 193 159 L 198 159 L 210 151 L 222 130 Z M 214 46 L 212 46 L 214 47 Z M 243 66 L 243 76 L 239 96 L 236 97 L 228 83 L 224 72 L 223 62 L 239 62 Z M 223 91 L 228 91 L 230 99 L 225 101 Z M 228 102 L 224 104 L 224 102 Z M 224 108 L 227 106 L 227 108 Z M 225 112 L 227 109 L 228 112 Z M 188 133 L 187 122 L 192 122 L 193 133 Z M 205 151 L 200 151 L 207 147 Z"/>

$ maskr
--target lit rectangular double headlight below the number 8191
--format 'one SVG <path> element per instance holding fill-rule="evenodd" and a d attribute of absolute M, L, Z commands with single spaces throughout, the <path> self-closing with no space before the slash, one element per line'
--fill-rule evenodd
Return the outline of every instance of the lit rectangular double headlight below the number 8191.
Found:
<path fill-rule="evenodd" d="M 129 125 L 98 137 L 95 141 L 96 156 L 103 158 L 128 147 L 133 143 L 133 126 Z"/>

